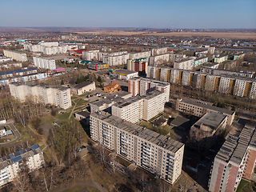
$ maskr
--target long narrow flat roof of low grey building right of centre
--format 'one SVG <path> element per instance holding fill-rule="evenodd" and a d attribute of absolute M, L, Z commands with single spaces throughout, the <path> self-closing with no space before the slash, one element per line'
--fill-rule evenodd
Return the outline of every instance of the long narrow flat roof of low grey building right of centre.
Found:
<path fill-rule="evenodd" d="M 194 99 L 189 99 L 189 98 L 182 98 L 180 99 L 181 102 L 186 102 L 190 105 L 194 105 L 194 106 L 199 106 L 202 108 L 206 108 L 208 110 L 214 110 L 214 111 L 219 111 L 223 114 L 234 114 L 235 112 L 233 110 L 226 110 L 224 108 L 220 108 L 218 106 L 211 106 L 209 104 L 207 104 L 206 102 L 202 102 L 202 101 L 198 101 L 198 100 L 194 100 Z"/>

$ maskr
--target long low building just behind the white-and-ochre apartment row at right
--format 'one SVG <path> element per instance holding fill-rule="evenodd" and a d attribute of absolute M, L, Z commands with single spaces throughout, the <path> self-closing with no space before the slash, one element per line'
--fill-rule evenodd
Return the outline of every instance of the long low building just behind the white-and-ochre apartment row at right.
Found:
<path fill-rule="evenodd" d="M 255 74 L 255 73 L 245 73 L 245 72 L 238 72 L 238 71 L 231 71 L 231 70 L 218 70 L 218 69 L 212 69 L 209 67 L 202 67 L 200 71 L 206 74 L 216 74 L 216 75 L 228 74 L 228 75 L 234 75 L 234 76 L 239 76 L 243 78 L 254 78 L 254 74 Z"/>

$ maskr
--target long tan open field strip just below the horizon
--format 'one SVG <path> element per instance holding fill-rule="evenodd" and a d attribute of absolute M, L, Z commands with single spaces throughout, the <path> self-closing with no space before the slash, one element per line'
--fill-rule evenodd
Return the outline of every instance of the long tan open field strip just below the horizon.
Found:
<path fill-rule="evenodd" d="M 77 32 L 78 34 L 112 34 L 112 35 L 152 35 L 152 36 L 168 36 L 168 37 L 211 37 L 211 38 L 256 38 L 256 33 L 242 33 L 242 32 L 171 32 L 171 33 L 157 33 L 157 32 L 140 32 L 140 31 L 124 31 L 124 30 L 98 30 L 90 32 Z"/>

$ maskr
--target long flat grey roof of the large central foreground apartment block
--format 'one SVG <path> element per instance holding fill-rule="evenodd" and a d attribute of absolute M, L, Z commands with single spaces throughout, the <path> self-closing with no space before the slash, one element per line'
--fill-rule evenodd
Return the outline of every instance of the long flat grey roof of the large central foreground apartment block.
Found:
<path fill-rule="evenodd" d="M 108 114 L 104 111 L 101 113 L 90 114 L 94 118 L 98 118 L 103 122 L 109 123 L 112 126 L 116 126 L 119 129 L 126 131 L 127 133 L 134 134 L 138 138 L 146 139 L 155 145 L 161 146 L 162 148 L 169 150 L 171 153 L 175 153 L 184 144 L 182 142 L 175 141 L 174 139 L 167 138 L 162 134 L 158 134 L 152 130 L 148 130 L 145 127 L 138 126 L 132 122 L 128 122 L 122 118 L 118 118 L 114 115 Z"/>

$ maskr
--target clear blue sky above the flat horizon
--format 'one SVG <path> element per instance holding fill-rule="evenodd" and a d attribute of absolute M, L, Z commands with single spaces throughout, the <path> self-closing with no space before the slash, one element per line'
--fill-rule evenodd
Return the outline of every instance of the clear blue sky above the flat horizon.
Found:
<path fill-rule="evenodd" d="M 0 26 L 256 29 L 256 0 L 0 0 Z"/>

